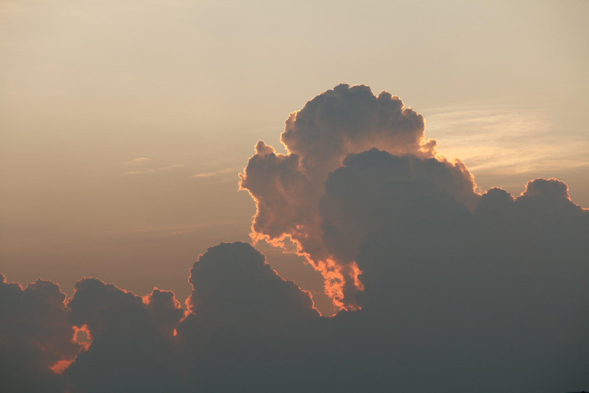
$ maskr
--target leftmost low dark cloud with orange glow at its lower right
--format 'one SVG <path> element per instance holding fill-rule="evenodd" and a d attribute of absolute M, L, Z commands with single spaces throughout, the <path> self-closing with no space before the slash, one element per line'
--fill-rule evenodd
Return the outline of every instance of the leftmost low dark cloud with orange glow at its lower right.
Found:
<path fill-rule="evenodd" d="M 27 288 L 0 273 L 0 389 L 63 392 L 59 375 L 82 345 L 73 341 L 65 293 L 47 280 Z"/>

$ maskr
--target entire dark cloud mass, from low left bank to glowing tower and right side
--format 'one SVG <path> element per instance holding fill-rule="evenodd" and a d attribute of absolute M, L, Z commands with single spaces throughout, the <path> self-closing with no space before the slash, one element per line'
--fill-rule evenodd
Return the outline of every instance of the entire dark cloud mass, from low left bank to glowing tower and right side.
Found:
<path fill-rule="evenodd" d="M 589 210 L 566 184 L 476 193 L 421 115 L 365 86 L 313 98 L 282 141 L 289 154 L 260 141 L 241 176 L 253 239 L 293 239 L 337 315 L 240 242 L 198 257 L 185 308 L 159 289 L 83 278 L 66 300 L 1 276 L 1 390 L 588 390 Z"/>

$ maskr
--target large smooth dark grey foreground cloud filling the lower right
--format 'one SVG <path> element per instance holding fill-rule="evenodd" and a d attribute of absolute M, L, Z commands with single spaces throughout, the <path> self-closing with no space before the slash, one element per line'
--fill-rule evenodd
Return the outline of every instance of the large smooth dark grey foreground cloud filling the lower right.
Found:
<path fill-rule="evenodd" d="M 421 184 L 406 198 L 408 187 L 379 191 L 370 210 L 388 223 L 365 237 L 355 259 L 363 322 L 376 318 L 395 332 L 380 333 L 380 345 L 429 378 L 403 376 L 399 384 L 459 391 L 487 381 L 484 390 L 514 392 L 586 386 L 589 212 L 570 201 L 565 184 L 537 179 L 515 198 L 491 189 L 474 214 L 438 187 Z"/>

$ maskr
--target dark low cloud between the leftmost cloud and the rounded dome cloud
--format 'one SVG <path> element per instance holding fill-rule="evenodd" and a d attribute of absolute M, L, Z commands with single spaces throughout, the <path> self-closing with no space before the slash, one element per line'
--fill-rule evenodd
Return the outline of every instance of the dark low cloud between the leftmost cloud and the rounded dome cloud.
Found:
<path fill-rule="evenodd" d="M 141 298 L 94 278 L 75 284 L 68 301 L 72 325 L 85 326 L 92 344 L 65 375 L 85 392 L 166 391 L 177 385 L 171 337 L 184 311 L 170 291 Z"/>

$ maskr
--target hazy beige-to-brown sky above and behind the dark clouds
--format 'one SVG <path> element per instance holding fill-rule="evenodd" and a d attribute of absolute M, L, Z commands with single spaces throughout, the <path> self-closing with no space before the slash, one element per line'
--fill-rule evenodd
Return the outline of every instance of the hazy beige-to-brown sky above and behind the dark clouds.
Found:
<path fill-rule="evenodd" d="M 443 3 L 443 4 L 442 4 Z M 557 177 L 589 206 L 587 1 L 0 0 L 0 271 L 190 293 L 249 241 L 237 173 L 340 82 L 401 97 L 482 190 Z M 264 246 L 330 311 L 323 279 Z"/>

